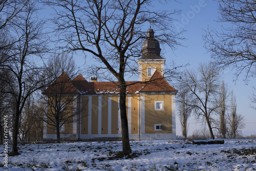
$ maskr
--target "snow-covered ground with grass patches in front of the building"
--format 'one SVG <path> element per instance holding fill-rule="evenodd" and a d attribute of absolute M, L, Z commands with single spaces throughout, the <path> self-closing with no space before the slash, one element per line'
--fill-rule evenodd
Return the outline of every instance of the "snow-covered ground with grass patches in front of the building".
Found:
<path fill-rule="evenodd" d="M 117 158 L 121 142 L 20 144 L 0 170 L 256 170 L 256 140 L 193 145 L 190 141 L 131 141 L 133 154 Z M 0 146 L 4 158 L 4 146 Z"/>

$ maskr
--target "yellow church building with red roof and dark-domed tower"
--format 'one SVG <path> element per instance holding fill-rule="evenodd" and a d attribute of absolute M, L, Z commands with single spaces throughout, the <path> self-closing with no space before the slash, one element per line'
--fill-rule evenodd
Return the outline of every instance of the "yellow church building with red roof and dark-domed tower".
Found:
<path fill-rule="evenodd" d="M 148 29 L 143 42 L 142 56 L 137 60 L 139 81 L 127 81 L 126 112 L 129 125 L 129 137 L 133 140 L 173 140 L 176 139 L 175 95 L 177 90 L 164 78 L 165 59 L 160 56 L 160 45 L 154 38 L 153 29 Z M 60 138 L 93 139 L 121 137 L 121 119 L 119 110 L 119 88 L 117 82 L 91 82 L 78 75 L 70 80 L 62 73 L 56 82 L 66 80 L 68 89 L 58 92 L 56 86 L 50 86 L 43 94 L 71 95 L 72 110 L 68 113 L 70 122 L 60 127 Z M 61 105 L 65 106 L 65 102 Z M 66 104 L 68 105 L 68 104 Z M 64 108 L 63 108 L 64 109 Z M 46 113 L 51 107 L 45 107 Z M 76 115 L 73 115 L 76 114 Z M 45 116 L 45 119 L 49 119 Z M 45 123 L 44 139 L 56 139 L 54 126 Z"/>

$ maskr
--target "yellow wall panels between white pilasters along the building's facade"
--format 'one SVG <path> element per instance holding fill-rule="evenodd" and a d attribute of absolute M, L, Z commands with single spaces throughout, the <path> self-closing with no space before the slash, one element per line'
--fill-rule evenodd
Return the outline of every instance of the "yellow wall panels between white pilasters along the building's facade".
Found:
<path fill-rule="evenodd" d="M 147 93 L 143 95 L 145 98 L 145 134 L 172 134 L 172 96 L 167 94 L 153 94 Z M 91 124 L 91 133 L 92 134 L 108 134 L 108 95 L 101 96 L 101 133 L 98 133 L 98 96 L 92 96 L 92 124 Z M 111 99 L 111 134 L 118 134 L 118 98 L 119 96 L 112 96 Z M 127 96 L 126 105 L 128 106 L 128 98 L 131 98 L 131 134 L 138 134 L 138 95 Z M 89 97 L 82 96 L 81 98 L 81 134 L 88 134 L 88 112 L 89 112 Z M 155 111 L 155 101 L 164 101 L 164 110 Z M 73 104 L 73 103 L 72 103 Z M 126 106 L 126 112 L 128 116 Z M 120 110 L 120 109 L 119 109 Z M 50 107 L 48 106 L 48 111 Z M 73 115 L 73 111 L 70 112 L 70 115 Z M 129 118 L 128 118 L 129 119 Z M 155 124 L 164 125 L 164 130 L 155 131 Z M 50 129 L 47 128 L 47 134 L 56 134 L 54 127 Z M 121 128 L 119 128 L 121 129 Z M 65 132 L 60 134 L 73 134 L 73 122 L 65 124 Z"/>

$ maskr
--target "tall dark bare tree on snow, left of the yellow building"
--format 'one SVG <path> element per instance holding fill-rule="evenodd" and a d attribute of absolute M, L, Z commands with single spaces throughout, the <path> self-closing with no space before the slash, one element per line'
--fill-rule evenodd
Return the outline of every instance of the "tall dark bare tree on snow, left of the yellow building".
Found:
<path fill-rule="evenodd" d="M 11 155 L 19 155 L 17 149 L 18 126 L 20 116 L 28 97 L 38 90 L 43 79 L 42 70 L 35 64 L 36 56 L 47 51 L 46 34 L 43 32 L 45 22 L 37 18 L 35 1 L 23 1 L 22 13 L 16 15 L 10 24 L 10 32 L 15 44 L 10 51 L 9 60 L 1 65 L 1 70 L 8 70 L 13 75 L 14 83 L 9 79 L 9 91 L 5 92 L 15 100 L 13 115 L 13 148 Z"/>

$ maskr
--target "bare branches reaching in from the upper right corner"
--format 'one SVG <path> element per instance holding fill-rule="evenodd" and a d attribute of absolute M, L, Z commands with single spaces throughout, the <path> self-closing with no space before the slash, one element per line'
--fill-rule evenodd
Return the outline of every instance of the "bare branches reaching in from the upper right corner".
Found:
<path fill-rule="evenodd" d="M 246 72 L 245 80 L 255 76 L 256 2 L 254 0 L 216 0 L 221 17 L 218 22 L 231 24 L 221 31 L 208 30 L 205 48 L 223 66 L 232 65 L 236 75 Z"/>

